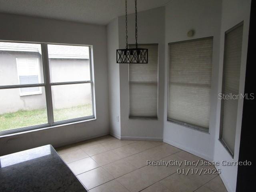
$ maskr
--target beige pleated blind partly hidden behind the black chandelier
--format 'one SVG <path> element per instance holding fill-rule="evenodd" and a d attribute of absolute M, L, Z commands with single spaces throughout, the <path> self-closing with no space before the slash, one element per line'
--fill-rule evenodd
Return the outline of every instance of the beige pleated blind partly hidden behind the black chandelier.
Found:
<path fill-rule="evenodd" d="M 148 64 L 129 64 L 130 118 L 157 118 L 158 45 L 140 44 L 138 47 L 148 49 Z"/>

